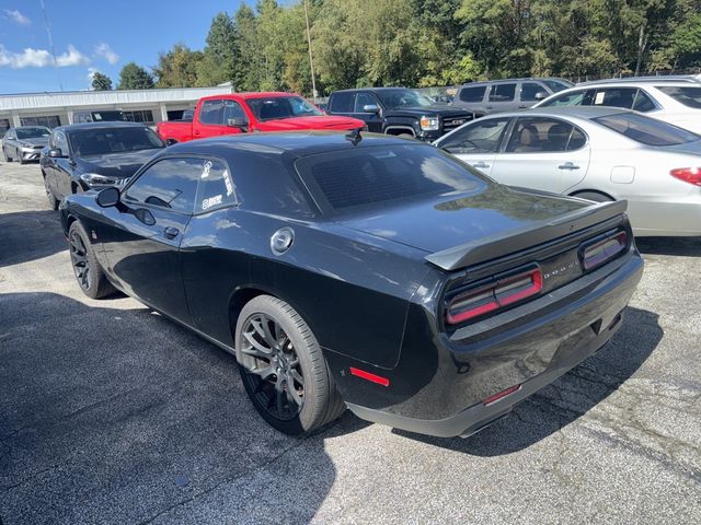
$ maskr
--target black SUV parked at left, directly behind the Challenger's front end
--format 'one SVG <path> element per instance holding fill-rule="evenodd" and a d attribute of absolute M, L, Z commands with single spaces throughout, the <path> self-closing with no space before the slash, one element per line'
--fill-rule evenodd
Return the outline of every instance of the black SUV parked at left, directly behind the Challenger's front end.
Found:
<path fill-rule="evenodd" d="M 68 195 L 124 186 L 165 142 L 137 122 L 88 122 L 55 128 L 39 164 L 53 209 Z"/>

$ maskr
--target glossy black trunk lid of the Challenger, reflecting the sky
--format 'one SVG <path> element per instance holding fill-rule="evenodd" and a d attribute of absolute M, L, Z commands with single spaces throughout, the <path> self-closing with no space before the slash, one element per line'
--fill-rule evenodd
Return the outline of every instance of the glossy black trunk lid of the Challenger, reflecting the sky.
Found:
<path fill-rule="evenodd" d="M 487 184 L 470 195 L 438 196 L 412 206 L 340 218 L 344 226 L 436 253 L 532 226 L 587 206 L 578 199 Z"/>

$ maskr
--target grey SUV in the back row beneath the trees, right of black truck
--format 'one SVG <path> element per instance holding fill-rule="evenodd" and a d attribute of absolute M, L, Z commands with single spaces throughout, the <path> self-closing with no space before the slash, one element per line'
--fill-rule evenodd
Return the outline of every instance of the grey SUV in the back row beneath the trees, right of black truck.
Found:
<path fill-rule="evenodd" d="M 471 82 L 458 88 L 452 105 L 478 116 L 526 109 L 553 93 L 572 88 L 563 79 L 505 79 Z"/>

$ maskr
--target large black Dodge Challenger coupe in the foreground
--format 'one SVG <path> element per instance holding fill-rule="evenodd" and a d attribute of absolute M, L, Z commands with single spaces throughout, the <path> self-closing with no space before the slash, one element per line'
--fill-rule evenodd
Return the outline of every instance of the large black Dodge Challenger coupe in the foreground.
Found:
<path fill-rule="evenodd" d="M 234 353 L 287 433 L 346 407 L 476 432 L 605 346 L 643 269 L 625 202 L 370 133 L 176 144 L 61 219 L 85 294 L 122 290 Z"/>

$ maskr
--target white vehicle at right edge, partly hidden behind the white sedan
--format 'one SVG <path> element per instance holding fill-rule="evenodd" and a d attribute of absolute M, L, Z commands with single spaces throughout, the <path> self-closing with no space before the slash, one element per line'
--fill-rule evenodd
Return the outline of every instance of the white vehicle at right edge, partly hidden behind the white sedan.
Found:
<path fill-rule="evenodd" d="M 634 109 L 701 133 L 701 83 L 686 80 L 591 82 L 555 93 L 535 107 L 612 106 Z"/>

